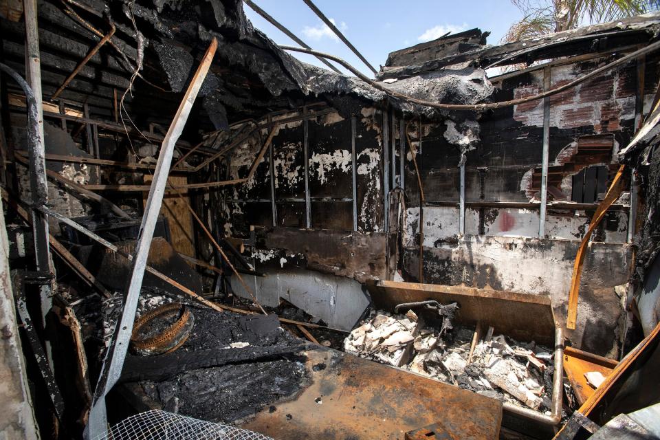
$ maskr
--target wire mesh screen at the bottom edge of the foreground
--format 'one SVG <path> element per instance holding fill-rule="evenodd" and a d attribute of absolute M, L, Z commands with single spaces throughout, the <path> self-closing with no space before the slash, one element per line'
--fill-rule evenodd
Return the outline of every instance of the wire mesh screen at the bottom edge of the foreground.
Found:
<path fill-rule="evenodd" d="M 273 440 L 256 432 L 151 410 L 133 415 L 113 426 L 95 440 Z"/>

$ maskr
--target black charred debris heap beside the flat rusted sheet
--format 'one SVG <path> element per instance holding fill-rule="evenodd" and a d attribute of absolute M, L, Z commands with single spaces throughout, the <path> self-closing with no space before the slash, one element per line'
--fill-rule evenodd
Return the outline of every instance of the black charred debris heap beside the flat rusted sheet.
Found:
<path fill-rule="evenodd" d="M 223 359 L 221 366 L 181 371 L 159 382 L 143 380 L 140 384 L 149 398 L 182 415 L 236 423 L 298 393 L 306 377 L 304 359 L 296 356 L 303 344 L 279 327 L 276 316 L 191 309 L 195 327 L 172 355 L 185 359 L 215 353 L 223 358 L 226 353 L 232 359 Z M 157 358 L 168 368 L 172 355 Z"/>

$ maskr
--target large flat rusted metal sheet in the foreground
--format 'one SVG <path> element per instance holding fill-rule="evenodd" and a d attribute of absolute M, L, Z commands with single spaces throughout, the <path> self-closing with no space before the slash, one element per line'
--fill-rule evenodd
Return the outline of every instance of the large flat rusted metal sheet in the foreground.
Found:
<path fill-rule="evenodd" d="M 439 438 L 498 438 L 500 401 L 323 347 L 305 355 L 309 385 L 242 428 L 274 439 L 394 440 L 439 423 Z"/>

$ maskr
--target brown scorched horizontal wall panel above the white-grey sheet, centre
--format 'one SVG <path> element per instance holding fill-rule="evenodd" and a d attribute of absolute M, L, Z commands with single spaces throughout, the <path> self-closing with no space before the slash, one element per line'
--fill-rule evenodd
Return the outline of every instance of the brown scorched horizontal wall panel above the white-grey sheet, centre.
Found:
<path fill-rule="evenodd" d="M 267 250 L 303 256 L 307 268 L 358 281 L 385 277 L 385 234 L 268 228 L 258 241 Z"/>

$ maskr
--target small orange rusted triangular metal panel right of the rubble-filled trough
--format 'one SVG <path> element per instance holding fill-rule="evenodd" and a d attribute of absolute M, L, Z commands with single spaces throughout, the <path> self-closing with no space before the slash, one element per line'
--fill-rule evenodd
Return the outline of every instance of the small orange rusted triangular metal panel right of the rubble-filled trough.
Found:
<path fill-rule="evenodd" d="M 564 371 L 566 376 L 569 377 L 569 382 L 573 387 L 573 392 L 580 405 L 594 393 L 592 388 L 587 382 L 584 373 L 589 371 L 597 371 L 604 377 L 608 377 L 612 370 L 617 366 L 618 362 L 602 356 L 587 353 L 586 351 L 566 347 L 564 349 Z"/>

